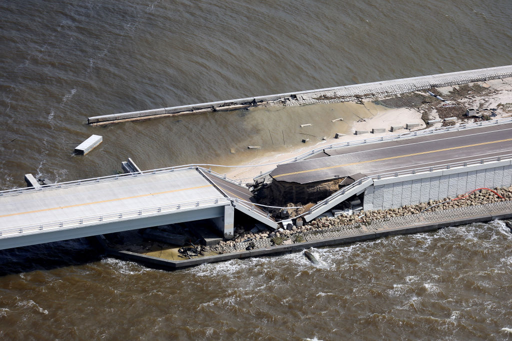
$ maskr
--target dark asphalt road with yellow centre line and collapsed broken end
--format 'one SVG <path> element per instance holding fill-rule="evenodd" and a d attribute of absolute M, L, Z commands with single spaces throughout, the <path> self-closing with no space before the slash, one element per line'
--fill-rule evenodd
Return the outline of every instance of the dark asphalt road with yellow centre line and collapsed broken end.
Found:
<path fill-rule="evenodd" d="M 512 124 L 423 135 L 417 138 L 325 150 L 279 165 L 274 180 L 308 184 L 356 173 L 375 175 L 512 153 Z"/>

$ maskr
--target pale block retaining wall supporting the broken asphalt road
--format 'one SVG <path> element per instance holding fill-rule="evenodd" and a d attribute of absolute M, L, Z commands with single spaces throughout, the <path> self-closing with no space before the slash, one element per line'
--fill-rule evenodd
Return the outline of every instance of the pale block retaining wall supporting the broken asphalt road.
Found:
<path fill-rule="evenodd" d="M 512 186 L 510 161 L 374 180 L 365 190 L 365 210 L 386 210 L 418 204 L 477 188 Z"/>

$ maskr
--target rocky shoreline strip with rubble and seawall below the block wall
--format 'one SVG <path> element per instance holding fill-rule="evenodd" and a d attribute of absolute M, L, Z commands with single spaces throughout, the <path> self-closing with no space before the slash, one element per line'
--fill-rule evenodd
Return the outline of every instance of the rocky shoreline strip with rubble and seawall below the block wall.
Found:
<path fill-rule="evenodd" d="M 204 256 L 183 260 L 155 257 L 119 247 L 116 249 L 108 245 L 110 242 L 105 237 L 97 238 L 109 256 L 174 270 L 203 263 L 375 240 L 389 235 L 432 232 L 447 226 L 505 218 L 512 218 L 512 187 L 483 189 L 466 196 L 430 200 L 398 209 L 342 213 L 336 216 L 325 214 L 307 225 L 288 225 L 272 233 L 244 231 L 237 233 L 235 240 L 221 241 L 212 247 L 206 246 Z"/>

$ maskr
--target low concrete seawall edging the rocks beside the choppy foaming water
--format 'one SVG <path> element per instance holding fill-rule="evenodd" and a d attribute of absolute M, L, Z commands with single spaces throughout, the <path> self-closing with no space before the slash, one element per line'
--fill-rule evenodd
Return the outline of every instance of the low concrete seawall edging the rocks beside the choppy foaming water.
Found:
<path fill-rule="evenodd" d="M 166 260 L 153 256 L 146 256 L 128 251 L 116 251 L 106 246 L 106 252 L 113 257 L 135 261 L 146 266 L 175 270 L 204 263 L 214 263 L 231 259 L 244 259 L 249 257 L 271 256 L 283 253 L 300 252 L 311 247 L 325 247 L 349 244 L 354 242 L 375 240 L 377 238 L 398 234 L 413 234 L 437 231 L 448 226 L 457 226 L 468 223 L 488 222 L 495 219 L 512 217 L 512 201 L 487 203 L 473 207 L 463 207 L 444 211 L 420 213 L 401 217 L 392 217 L 373 222 L 369 226 L 359 224 L 345 226 L 340 229 L 326 229 L 321 233 L 305 233 L 305 241 L 290 245 L 276 245 L 270 247 L 245 250 L 245 243 L 237 243 L 232 252 L 199 257 L 188 260 Z M 100 237 L 101 238 L 101 237 Z"/>

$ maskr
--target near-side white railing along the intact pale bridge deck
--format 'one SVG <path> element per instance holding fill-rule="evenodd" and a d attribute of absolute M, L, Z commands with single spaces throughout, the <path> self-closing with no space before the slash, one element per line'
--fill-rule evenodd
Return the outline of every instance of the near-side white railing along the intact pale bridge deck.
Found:
<path fill-rule="evenodd" d="M 95 215 L 95 216 L 86 216 L 82 218 L 77 219 L 69 219 L 69 220 L 59 220 L 59 221 L 52 221 L 42 224 L 34 224 L 34 225 L 19 225 L 14 228 L 10 228 L 7 230 L 1 230 L 0 231 L 0 238 L 5 236 L 12 236 L 12 235 L 19 235 L 29 232 L 36 232 L 36 231 L 48 231 L 48 230 L 55 230 L 55 229 L 65 229 L 65 228 L 73 228 L 77 226 L 85 226 L 90 225 L 93 223 L 107 223 L 107 222 L 113 222 L 113 221 L 120 221 L 120 220 L 126 220 L 127 218 L 134 218 L 134 217 L 148 217 L 148 216 L 155 216 L 160 215 L 162 213 L 169 213 L 169 212 L 177 212 L 184 209 L 189 208 L 208 208 L 212 205 L 218 205 L 219 203 L 229 202 L 237 200 L 237 198 L 219 198 L 219 197 L 210 197 L 205 198 L 201 200 L 195 200 L 195 201 L 185 201 L 185 202 L 178 202 L 178 203 L 170 203 L 170 204 L 164 204 L 160 206 L 151 206 L 151 207 L 145 207 L 138 210 L 130 210 L 130 211 L 120 211 L 120 212 L 112 212 L 112 213 L 106 213 L 102 215 Z"/>

